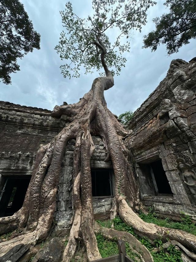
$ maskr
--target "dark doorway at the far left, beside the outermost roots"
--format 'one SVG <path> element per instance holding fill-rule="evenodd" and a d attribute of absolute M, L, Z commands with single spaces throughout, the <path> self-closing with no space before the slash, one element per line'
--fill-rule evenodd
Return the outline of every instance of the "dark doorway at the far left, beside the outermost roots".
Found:
<path fill-rule="evenodd" d="M 4 187 L 0 192 L 0 217 L 12 216 L 22 207 L 29 182 L 29 176 L 5 178 Z"/>

